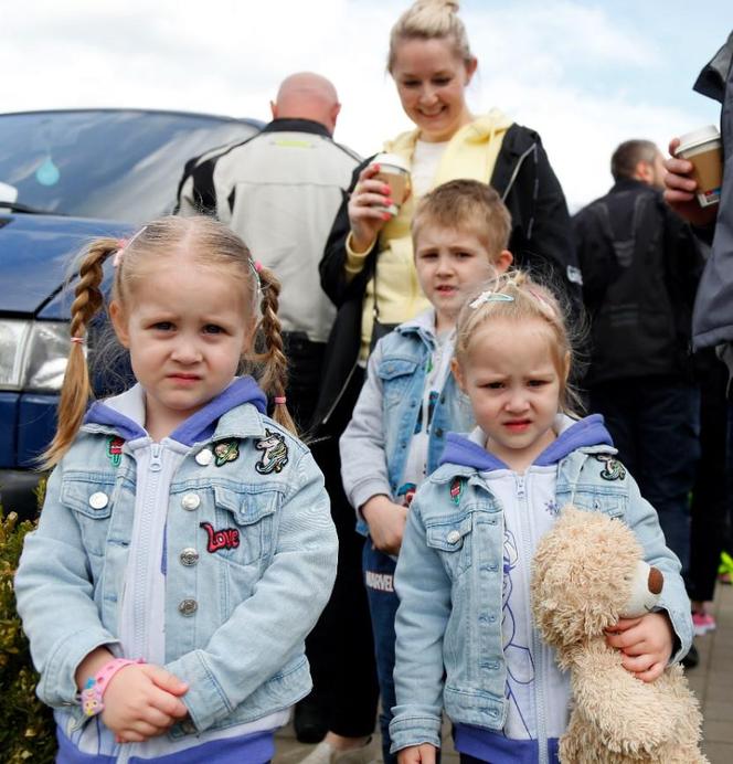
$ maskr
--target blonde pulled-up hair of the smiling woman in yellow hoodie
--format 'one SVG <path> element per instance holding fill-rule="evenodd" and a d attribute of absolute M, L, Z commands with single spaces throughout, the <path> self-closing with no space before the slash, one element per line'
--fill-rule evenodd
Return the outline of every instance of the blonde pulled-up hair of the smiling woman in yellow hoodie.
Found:
<path fill-rule="evenodd" d="M 392 73 L 397 46 L 405 40 L 452 39 L 456 55 L 468 63 L 474 54 L 468 44 L 464 22 L 458 18 L 455 0 L 417 0 L 396 21 L 390 32 L 390 53 L 386 68 Z"/>

